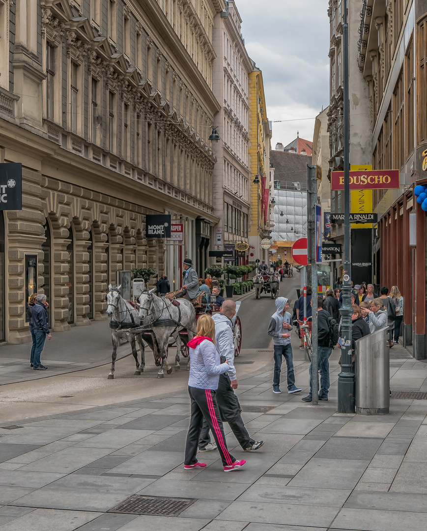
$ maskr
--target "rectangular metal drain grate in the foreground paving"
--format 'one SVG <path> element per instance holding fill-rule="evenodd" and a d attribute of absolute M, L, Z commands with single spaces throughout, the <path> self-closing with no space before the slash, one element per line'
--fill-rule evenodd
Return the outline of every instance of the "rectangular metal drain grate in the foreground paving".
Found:
<path fill-rule="evenodd" d="M 161 498 L 134 494 L 107 512 L 126 515 L 178 516 L 198 501 L 196 498 Z"/>

